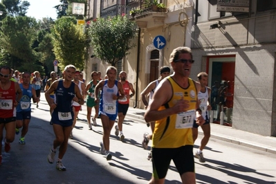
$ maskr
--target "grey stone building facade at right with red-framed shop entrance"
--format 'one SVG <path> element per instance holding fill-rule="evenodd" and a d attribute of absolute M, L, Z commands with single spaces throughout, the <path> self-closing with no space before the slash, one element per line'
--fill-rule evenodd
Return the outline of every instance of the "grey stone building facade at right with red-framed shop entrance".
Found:
<path fill-rule="evenodd" d="M 276 1 L 194 1 L 194 59 L 209 86 L 228 82 L 232 127 L 264 136 L 276 136 L 275 22 Z"/>

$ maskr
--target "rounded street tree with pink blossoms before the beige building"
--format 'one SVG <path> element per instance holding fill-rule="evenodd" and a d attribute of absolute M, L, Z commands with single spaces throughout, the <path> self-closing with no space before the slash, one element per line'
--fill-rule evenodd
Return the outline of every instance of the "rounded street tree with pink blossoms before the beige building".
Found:
<path fill-rule="evenodd" d="M 135 46 L 131 44 L 131 39 L 136 35 L 134 24 L 134 21 L 122 16 L 93 21 L 89 35 L 95 55 L 116 66 L 116 63 L 128 55 L 128 51 Z"/>

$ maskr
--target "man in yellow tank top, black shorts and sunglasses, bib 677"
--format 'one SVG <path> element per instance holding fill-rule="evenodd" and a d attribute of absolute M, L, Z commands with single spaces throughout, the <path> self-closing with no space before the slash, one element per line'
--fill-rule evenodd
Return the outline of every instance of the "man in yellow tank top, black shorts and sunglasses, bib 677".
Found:
<path fill-rule="evenodd" d="M 174 74 L 160 82 L 145 113 L 146 122 L 156 121 L 153 147 L 153 174 L 149 183 L 164 183 L 171 160 L 174 160 L 182 183 L 196 183 L 194 173 L 192 125 L 203 125 L 197 91 L 199 83 L 189 78 L 192 50 L 178 47 L 169 62 Z"/>

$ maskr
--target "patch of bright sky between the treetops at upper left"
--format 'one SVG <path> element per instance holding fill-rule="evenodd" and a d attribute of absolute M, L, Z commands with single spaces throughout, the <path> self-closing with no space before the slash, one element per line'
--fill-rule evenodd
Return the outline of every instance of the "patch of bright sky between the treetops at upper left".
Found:
<path fill-rule="evenodd" d="M 56 9 L 53 8 L 60 4 L 59 0 L 26 0 L 30 3 L 28 13 L 29 17 L 35 17 L 35 19 L 42 19 L 43 17 L 52 17 L 57 19 Z"/>

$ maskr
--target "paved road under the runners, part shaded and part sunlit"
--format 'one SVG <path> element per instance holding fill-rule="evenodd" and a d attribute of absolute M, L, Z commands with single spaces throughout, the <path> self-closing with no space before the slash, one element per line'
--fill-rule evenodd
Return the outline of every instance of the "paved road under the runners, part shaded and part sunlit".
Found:
<path fill-rule="evenodd" d="M 99 154 L 102 139 L 100 119 L 89 131 L 85 108 L 80 112 L 74 139 L 69 140 L 63 163 L 66 172 L 59 172 L 46 156 L 53 144 L 53 129 L 49 125 L 48 104 L 42 94 L 39 109 L 33 109 L 33 119 L 26 136 L 26 145 L 16 137 L 10 152 L 3 153 L 0 183 L 147 183 L 151 178 L 151 162 L 146 159 L 141 139 L 149 128 L 131 118 L 125 120 L 125 140 L 121 142 L 111 132 L 112 160 Z M 33 107 L 35 107 L 33 105 Z M 202 137 L 196 140 L 197 148 Z M 211 138 L 204 151 L 205 163 L 196 161 L 197 183 L 276 183 L 276 155 Z M 181 183 L 174 164 L 165 183 Z"/>

